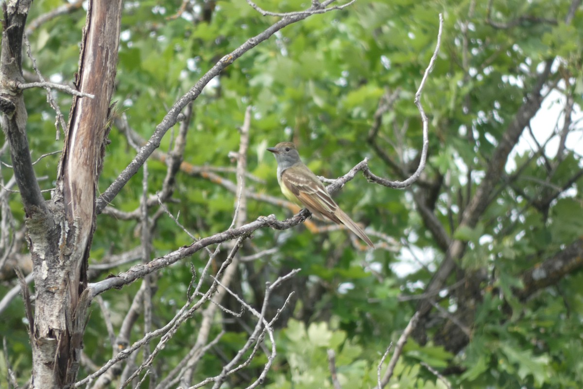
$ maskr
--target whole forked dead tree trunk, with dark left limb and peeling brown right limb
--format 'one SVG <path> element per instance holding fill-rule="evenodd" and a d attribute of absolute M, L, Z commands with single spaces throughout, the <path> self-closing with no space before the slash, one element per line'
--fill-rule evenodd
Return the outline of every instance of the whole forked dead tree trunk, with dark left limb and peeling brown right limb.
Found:
<path fill-rule="evenodd" d="M 96 183 L 104 155 L 120 35 L 121 0 L 89 1 L 75 85 L 89 97 L 74 97 L 59 163 L 57 189 L 45 201 L 37 184 L 26 135 L 22 38 L 31 0 L 3 6 L 0 63 L 2 128 L 26 212 L 34 265 L 34 317 L 27 309 L 34 388 L 75 382 L 86 309 L 87 258 L 95 229 Z"/>

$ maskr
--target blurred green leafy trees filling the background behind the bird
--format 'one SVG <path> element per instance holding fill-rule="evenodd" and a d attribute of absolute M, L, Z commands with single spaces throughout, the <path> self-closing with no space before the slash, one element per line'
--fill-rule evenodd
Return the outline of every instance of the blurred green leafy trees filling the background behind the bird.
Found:
<path fill-rule="evenodd" d="M 34 2 L 27 34 L 45 78 L 71 83 L 85 10 L 75 2 L 41 19 L 62 4 Z M 310 6 L 271 0 L 258 5 L 273 12 Z M 151 258 L 192 243 L 168 213 L 197 239 L 233 222 L 237 155 L 230 152 L 240 149 L 238 128 L 248 106 L 246 222 L 272 213 L 281 220 L 298 211 L 283 201 L 275 160 L 265 152 L 280 141 L 294 141 L 321 176 L 342 176 L 370 157 L 379 176 L 409 177 L 422 146 L 413 98 L 436 46 L 439 13 L 441 51 L 422 100 L 430 117 L 422 177 L 399 191 L 357 174 L 335 197 L 367 226 L 375 250 L 318 220 L 283 231 L 259 229 L 241 247 L 230 289 L 255 309 L 264 302 L 266 282 L 301 269 L 266 305 L 270 320 L 294 292 L 274 324 L 278 356 L 264 387 L 375 387 L 382 355 L 416 312 L 387 387 L 572 388 L 583 382 L 581 1 L 358 0 L 278 31 L 214 78 L 150 157 Z M 150 138 L 178 97 L 225 54 L 279 19 L 233 0 L 125 2 L 117 106 L 99 190 L 131 162 L 135 147 Z M 23 67 L 33 80 L 30 58 Z M 71 97 L 57 96 L 66 115 Z M 43 90 L 26 90 L 24 100 L 33 160 L 62 149 Z M 169 188 L 167 164 L 177 143 L 184 146 L 178 153 L 184 162 L 161 206 L 154 194 Z M 22 300 L 10 297 L 10 290 L 17 286 L 14 268 L 26 273 L 31 265 L 20 197 L 7 190 L 12 171 L 3 144 L 0 254 L 6 259 L 0 297 L 6 304 L 0 334 L 6 352 L 0 376 L 10 367 L 24 385 L 31 374 L 29 338 Z M 53 187 L 58 160 L 58 154 L 49 155 L 34 166 L 43 189 Z M 97 218 L 90 282 L 143 260 L 144 186 L 137 176 Z M 212 273 L 231 247 L 210 262 Z M 201 251 L 145 284 L 104 292 L 90 308 L 79 378 L 103 366 L 112 346 L 117 353 L 120 346 L 112 339 L 128 311 L 137 315 L 128 322 L 129 344 L 166 325 L 187 302 L 189 284 L 198 282 L 208 260 Z M 149 296 L 148 304 L 136 298 L 141 293 Z M 132 302 L 146 308 L 145 317 Z M 244 346 L 257 319 L 248 309 L 234 316 L 205 310 L 209 306 L 181 324 L 142 386 L 199 383 L 220 374 Z M 223 306 L 241 310 L 233 296 Z M 212 313 L 204 330 L 203 311 Z M 192 359 L 197 342 L 208 344 L 217 335 L 194 367 L 181 365 Z M 123 382 L 120 374 L 127 379 L 156 342 L 124 361 L 111 385 Z M 271 349 L 269 339 L 223 387 L 253 383 L 268 360 L 265 349 Z"/>

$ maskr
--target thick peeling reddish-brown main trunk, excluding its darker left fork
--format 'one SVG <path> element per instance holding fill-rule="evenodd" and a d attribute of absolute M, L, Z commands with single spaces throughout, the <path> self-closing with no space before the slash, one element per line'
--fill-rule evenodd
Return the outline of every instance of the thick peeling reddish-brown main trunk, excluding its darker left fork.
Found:
<path fill-rule="evenodd" d="M 67 387 L 79 369 L 89 298 L 87 259 L 120 34 L 121 0 L 89 1 L 57 190 L 48 217 L 29 223 L 36 289 L 33 387 Z M 40 219 L 40 218 L 38 218 Z M 31 227 L 32 226 L 32 227 Z"/>

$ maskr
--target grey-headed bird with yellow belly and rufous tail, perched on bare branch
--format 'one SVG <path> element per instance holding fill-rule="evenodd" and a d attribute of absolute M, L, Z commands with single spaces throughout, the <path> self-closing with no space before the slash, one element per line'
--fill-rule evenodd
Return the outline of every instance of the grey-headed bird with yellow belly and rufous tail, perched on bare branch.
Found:
<path fill-rule="evenodd" d="M 305 206 L 317 218 L 330 219 L 337 224 L 342 223 L 368 246 L 374 247 L 364 231 L 330 197 L 318 177 L 301 162 L 296 145 L 291 142 L 282 142 L 268 150 L 278 161 L 278 183 L 285 197 L 298 205 Z"/>

